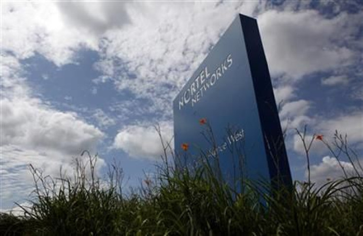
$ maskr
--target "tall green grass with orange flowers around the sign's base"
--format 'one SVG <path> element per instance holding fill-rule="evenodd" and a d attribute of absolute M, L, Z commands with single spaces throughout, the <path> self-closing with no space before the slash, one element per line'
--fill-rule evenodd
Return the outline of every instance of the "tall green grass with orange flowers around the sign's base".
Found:
<path fill-rule="evenodd" d="M 160 134 L 160 129 L 157 129 Z M 311 142 L 301 135 L 307 154 Z M 161 135 L 160 135 L 161 136 Z M 305 143 L 306 141 L 306 143 Z M 363 235 L 363 169 L 346 137 L 335 134 L 327 148 L 341 162 L 354 165 L 339 180 L 323 186 L 294 182 L 291 188 L 240 179 L 238 193 L 221 180 L 218 170 L 201 155 L 203 165 L 176 169 L 171 165 L 170 142 L 161 142 L 163 162 L 157 176 L 145 178 L 139 191 L 124 195 L 122 169 L 110 165 L 108 184 L 96 176 L 97 157 L 84 152 L 72 177 L 34 176 L 30 207 L 25 216 L 0 215 L 1 235 Z M 341 166 L 343 168 L 343 166 Z M 344 169 L 343 169 L 344 170 Z M 261 198 L 263 201 L 261 201 Z"/>

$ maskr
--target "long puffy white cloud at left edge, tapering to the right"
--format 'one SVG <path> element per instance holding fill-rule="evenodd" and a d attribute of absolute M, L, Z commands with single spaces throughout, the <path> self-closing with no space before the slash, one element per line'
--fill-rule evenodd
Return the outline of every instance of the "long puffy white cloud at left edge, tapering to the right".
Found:
<path fill-rule="evenodd" d="M 1 144 L 79 154 L 94 148 L 103 133 L 74 113 L 48 108 L 36 99 L 1 101 Z"/>

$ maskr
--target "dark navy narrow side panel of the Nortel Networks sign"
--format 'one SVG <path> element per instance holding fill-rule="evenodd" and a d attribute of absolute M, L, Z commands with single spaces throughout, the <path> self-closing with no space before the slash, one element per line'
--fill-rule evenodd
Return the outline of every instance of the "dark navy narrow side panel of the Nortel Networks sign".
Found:
<path fill-rule="evenodd" d="M 271 179 L 292 186 L 289 161 L 257 21 L 240 15 Z"/>

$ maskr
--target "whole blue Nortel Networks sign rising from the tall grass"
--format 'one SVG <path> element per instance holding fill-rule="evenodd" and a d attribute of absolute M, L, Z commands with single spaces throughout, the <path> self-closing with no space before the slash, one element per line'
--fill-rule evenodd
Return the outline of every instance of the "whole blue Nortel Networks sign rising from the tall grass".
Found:
<path fill-rule="evenodd" d="M 237 16 L 175 98 L 173 110 L 176 165 L 187 167 L 202 155 L 219 160 L 229 183 L 242 174 L 291 185 L 255 19 Z"/>

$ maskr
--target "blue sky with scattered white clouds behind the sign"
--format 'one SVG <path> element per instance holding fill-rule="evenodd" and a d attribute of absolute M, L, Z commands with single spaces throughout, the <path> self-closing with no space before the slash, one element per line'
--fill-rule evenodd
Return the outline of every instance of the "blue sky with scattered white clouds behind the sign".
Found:
<path fill-rule="evenodd" d="M 294 180 L 295 129 L 335 130 L 363 159 L 363 3 L 346 1 L 1 1 L 0 209 L 33 190 L 29 164 L 72 172 L 82 150 L 102 177 L 116 160 L 140 186 L 173 136 L 172 101 L 238 13 L 257 19 Z M 346 170 L 352 165 L 342 156 Z M 363 160 L 362 160 L 363 161 Z M 311 178 L 342 176 L 314 140 Z"/>

